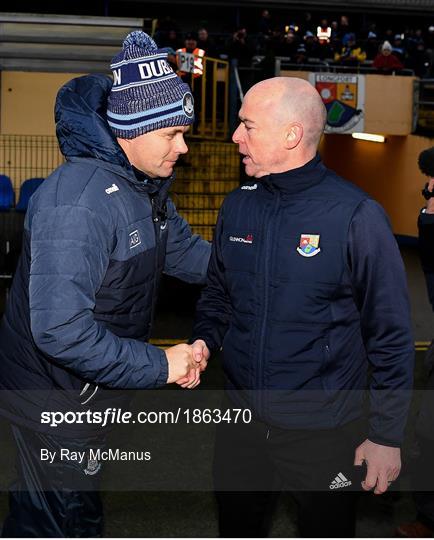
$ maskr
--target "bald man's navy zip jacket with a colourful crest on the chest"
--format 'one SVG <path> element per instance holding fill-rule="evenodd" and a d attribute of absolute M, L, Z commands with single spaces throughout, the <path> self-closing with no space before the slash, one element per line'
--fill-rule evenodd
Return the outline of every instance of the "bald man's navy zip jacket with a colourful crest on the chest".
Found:
<path fill-rule="evenodd" d="M 369 379 L 369 438 L 401 443 L 414 356 L 402 260 L 382 208 L 319 156 L 225 199 L 193 338 L 223 347 L 228 389 L 262 421 L 339 426 L 362 415 Z"/>

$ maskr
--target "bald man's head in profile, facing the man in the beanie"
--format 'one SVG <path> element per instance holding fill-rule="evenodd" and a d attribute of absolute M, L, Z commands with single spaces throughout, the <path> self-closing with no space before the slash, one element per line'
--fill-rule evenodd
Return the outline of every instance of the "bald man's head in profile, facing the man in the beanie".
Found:
<path fill-rule="evenodd" d="M 232 136 L 249 176 L 260 178 L 303 166 L 316 154 L 326 110 L 303 79 L 275 77 L 253 86 Z"/>

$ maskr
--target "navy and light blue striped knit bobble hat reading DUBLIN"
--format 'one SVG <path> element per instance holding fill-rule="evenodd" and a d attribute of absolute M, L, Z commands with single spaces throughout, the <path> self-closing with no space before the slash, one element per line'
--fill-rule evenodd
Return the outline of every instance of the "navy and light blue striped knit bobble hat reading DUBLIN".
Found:
<path fill-rule="evenodd" d="M 114 81 L 107 120 L 116 137 L 134 139 L 156 129 L 193 123 L 190 88 L 166 58 L 167 52 L 144 32 L 131 32 L 125 38 L 110 65 Z"/>

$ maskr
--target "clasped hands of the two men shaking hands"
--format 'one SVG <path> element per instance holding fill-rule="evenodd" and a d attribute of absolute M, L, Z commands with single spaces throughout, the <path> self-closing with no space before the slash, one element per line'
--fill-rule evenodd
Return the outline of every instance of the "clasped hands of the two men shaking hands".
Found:
<path fill-rule="evenodd" d="M 210 352 L 202 339 L 192 345 L 181 343 L 166 349 L 169 375 L 167 384 L 179 384 L 182 388 L 194 388 L 200 383 L 200 374 L 205 371 Z"/>

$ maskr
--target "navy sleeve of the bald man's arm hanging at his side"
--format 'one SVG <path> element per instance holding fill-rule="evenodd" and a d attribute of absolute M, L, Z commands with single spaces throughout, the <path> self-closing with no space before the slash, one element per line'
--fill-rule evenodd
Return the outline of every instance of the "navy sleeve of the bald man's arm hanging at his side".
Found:
<path fill-rule="evenodd" d="M 399 446 L 413 388 L 414 344 L 404 265 L 388 219 L 373 200 L 349 231 L 352 286 L 371 365 L 368 438 Z"/>

